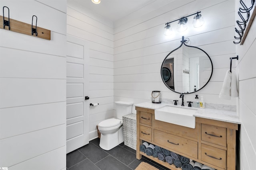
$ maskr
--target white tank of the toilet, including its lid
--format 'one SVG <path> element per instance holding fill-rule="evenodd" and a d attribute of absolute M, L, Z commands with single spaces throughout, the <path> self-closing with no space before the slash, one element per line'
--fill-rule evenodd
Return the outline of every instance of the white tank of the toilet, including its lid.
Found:
<path fill-rule="evenodd" d="M 124 115 L 132 113 L 132 102 L 117 101 L 116 104 L 116 117 L 123 119 Z"/>

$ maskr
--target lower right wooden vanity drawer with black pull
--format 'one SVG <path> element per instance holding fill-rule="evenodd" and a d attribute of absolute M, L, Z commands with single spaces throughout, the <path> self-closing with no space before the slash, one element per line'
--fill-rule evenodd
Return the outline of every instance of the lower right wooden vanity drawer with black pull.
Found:
<path fill-rule="evenodd" d="M 201 160 L 226 169 L 226 150 L 202 144 Z"/>

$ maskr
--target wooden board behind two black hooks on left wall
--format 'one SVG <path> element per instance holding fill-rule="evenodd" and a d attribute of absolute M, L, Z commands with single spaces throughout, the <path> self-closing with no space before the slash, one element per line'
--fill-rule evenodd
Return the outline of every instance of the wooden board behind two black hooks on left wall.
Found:
<path fill-rule="evenodd" d="M 8 18 L 4 17 L 4 20 L 8 21 Z M 0 28 L 6 29 L 9 31 L 8 26 L 5 26 L 5 28 L 3 27 L 3 16 L 0 16 Z M 34 33 L 34 35 L 32 35 L 31 28 L 32 28 L 31 25 L 28 23 L 13 20 L 10 18 L 10 31 L 14 31 L 17 33 L 22 33 L 22 34 L 30 35 L 33 37 L 42 38 L 42 39 L 47 39 L 47 40 L 51 39 L 51 31 L 50 30 L 44 29 L 41 27 L 36 27 L 36 32 L 37 32 L 37 36 L 36 36 L 35 33 Z"/>

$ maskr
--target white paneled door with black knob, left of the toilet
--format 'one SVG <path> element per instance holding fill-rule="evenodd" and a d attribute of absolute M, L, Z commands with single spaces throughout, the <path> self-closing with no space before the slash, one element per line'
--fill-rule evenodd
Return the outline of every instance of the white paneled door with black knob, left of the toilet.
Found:
<path fill-rule="evenodd" d="M 89 143 L 88 47 L 67 35 L 67 153 Z"/>

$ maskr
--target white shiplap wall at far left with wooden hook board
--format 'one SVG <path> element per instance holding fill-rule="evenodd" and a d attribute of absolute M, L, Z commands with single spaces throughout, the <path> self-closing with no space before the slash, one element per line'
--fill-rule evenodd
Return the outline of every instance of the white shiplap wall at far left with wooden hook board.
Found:
<path fill-rule="evenodd" d="M 66 0 L 0 6 L 51 30 L 48 41 L 0 29 L 0 167 L 66 169 Z"/>

